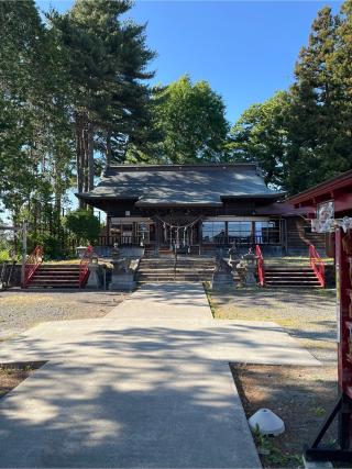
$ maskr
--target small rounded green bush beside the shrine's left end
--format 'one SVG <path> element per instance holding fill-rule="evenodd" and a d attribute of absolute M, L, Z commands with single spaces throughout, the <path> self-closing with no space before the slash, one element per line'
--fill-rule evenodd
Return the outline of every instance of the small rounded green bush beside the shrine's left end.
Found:
<path fill-rule="evenodd" d="M 99 220 L 88 210 L 69 212 L 65 224 L 79 243 L 95 243 L 100 233 Z"/>

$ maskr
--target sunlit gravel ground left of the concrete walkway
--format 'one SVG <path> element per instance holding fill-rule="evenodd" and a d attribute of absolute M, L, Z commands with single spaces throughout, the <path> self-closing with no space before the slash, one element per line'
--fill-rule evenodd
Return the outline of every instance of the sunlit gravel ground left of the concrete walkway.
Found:
<path fill-rule="evenodd" d="M 9 290 L 0 293 L 0 340 L 45 321 L 102 317 L 127 295 L 87 290 Z"/>

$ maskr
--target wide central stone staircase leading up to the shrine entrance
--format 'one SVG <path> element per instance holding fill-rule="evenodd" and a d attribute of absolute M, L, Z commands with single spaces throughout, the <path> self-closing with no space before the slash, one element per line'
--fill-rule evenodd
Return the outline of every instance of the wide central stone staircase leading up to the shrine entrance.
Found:
<path fill-rule="evenodd" d="M 178 257 L 176 271 L 174 257 L 143 258 L 136 273 L 136 281 L 155 282 L 200 282 L 210 281 L 215 269 L 215 259 L 210 257 Z"/>

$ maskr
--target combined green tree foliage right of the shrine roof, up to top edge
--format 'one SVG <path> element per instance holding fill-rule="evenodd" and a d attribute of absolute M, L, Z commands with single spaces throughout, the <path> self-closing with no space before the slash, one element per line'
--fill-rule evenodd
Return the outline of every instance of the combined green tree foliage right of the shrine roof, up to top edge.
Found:
<path fill-rule="evenodd" d="M 295 82 L 232 127 L 235 160 L 256 159 L 266 181 L 296 193 L 352 168 L 352 1 L 322 8 L 300 51 Z"/>

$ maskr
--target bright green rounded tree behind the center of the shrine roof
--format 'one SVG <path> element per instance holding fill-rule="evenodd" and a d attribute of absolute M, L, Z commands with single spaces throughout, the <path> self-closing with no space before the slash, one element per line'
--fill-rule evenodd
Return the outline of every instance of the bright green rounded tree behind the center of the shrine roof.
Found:
<path fill-rule="evenodd" d="M 157 161 L 218 161 L 229 130 L 226 107 L 207 81 L 188 76 L 155 90 L 155 125 L 162 136 L 153 148 Z"/>

